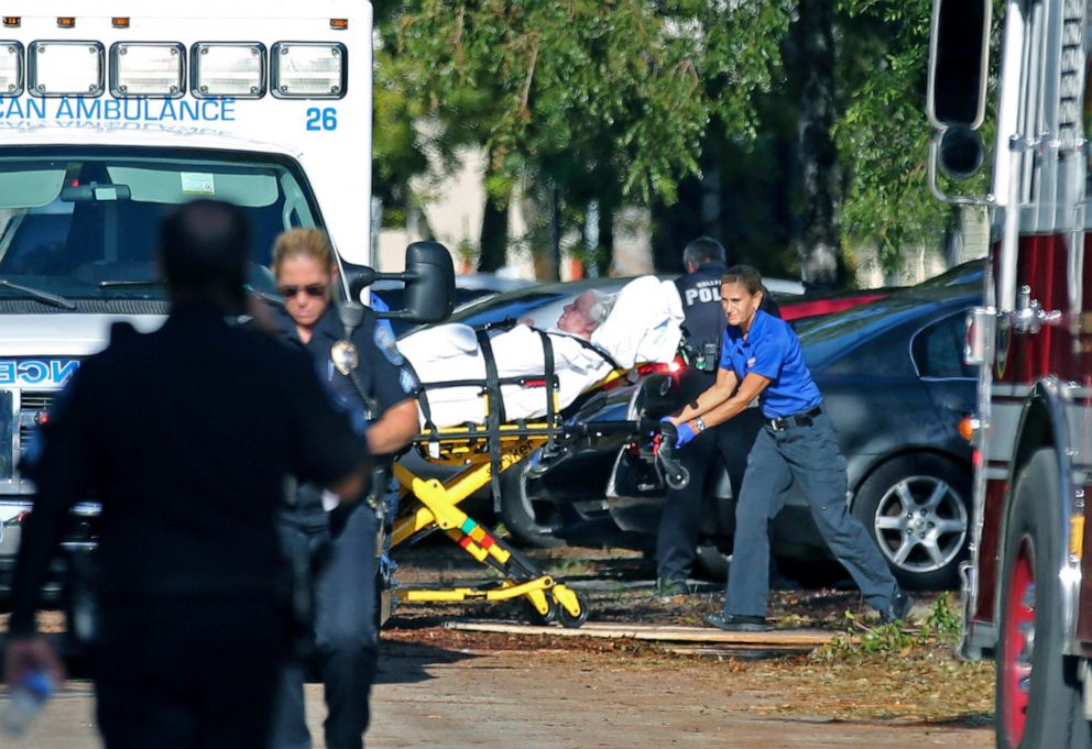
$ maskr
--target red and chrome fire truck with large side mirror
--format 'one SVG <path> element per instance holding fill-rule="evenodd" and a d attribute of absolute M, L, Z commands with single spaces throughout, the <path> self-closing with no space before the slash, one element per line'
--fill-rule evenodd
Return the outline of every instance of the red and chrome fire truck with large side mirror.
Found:
<path fill-rule="evenodd" d="M 986 206 L 994 230 L 967 328 L 980 379 L 961 652 L 995 659 L 1005 748 L 1092 746 L 1090 22 L 1083 0 L 932 8 L 930 184 Z M 960 181 L 985 162 L 989 188 Z"/>

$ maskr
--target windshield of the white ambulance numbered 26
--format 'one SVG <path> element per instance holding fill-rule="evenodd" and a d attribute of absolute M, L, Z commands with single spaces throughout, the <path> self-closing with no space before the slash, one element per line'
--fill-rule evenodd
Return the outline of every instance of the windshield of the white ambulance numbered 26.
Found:
<path fill-rule="evenodd" d="M 274 288 L 267 268 L 276 235 L 320 225 L 290 159 L 181 148 L 21 150 L 0 158 L 0 299 L 162 299 L 153 258 L 160 221 L 196 198 L 245 211 L 250 283 L 261 291 Z"/>

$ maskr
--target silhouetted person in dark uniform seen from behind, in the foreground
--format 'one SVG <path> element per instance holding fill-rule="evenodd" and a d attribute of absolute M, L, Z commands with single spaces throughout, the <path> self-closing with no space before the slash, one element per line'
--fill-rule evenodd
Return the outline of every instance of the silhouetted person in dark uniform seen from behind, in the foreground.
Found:
<path fill-rule="evenodd" d="M 312 362 L 230 327 L 244 306 L 250 231 L 199 200 L 161 233 L 171 313 L 156 332 L 116 328 L 58 397 L 28 461 L 4 672 L 59 661 L 35 608 L 69 507 L 101 500 L 95 656 L 108 749 L 265 749 L 288 641 L 288 565 L 276 514 L 290 476 L 353 502 L 367 448 Z"/>

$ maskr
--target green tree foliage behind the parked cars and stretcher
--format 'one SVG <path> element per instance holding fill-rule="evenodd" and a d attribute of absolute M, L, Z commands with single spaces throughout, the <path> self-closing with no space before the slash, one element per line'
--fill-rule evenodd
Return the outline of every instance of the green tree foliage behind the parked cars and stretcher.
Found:
<path fill-rule="evenodd" d="M 820 164 L 834 178 L 818 214 L 836 234 L 821 244 L 836 252 L 839 231 L 843 252 L 874 243 L 892 271 L 953 219 L 927 184 L 931 0 L 832 1 L 833 117 L 812 124 L 829 128 L 836 163 L 809 162 L 807 139 L 786 126 L 802 122 L 815 88 L 800 29 L 790 33 L 799 0 L 374 0 L 376 190 L 404 205 L 425 151 L 454 168 L 471 145 L 489 154 L 494 212 L 529 176 L 532 191 L 560 197 L 570 227 L 594 200 L 609 235 L 624 202 L 663 218 L 680 189 L 705 200 L 708 189 L 686 185 L 716 168 L 723 239 L 766 269 L 795 271 L 817 243 L 808 217 L 822 206 L 804 188 L 808 164 Z M 739 163 L 713 165 L 719 154 Z M 763 165 L 769 175 L 750 173 Z M 680 232 L 712 225 L 695 213 L 676 218 Z M 779 249 L 793 245 L 797 257 Z"/>

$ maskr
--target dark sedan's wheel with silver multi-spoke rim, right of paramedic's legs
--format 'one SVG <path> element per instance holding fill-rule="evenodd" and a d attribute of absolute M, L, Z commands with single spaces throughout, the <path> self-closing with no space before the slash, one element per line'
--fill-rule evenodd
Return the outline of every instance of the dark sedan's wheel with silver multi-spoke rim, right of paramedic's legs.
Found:
<path fill-rule="evenodd" d="M 899 585 L 948 590 L 971 539 L 971 475 L 928 453 L 902 455 L 870 475 L 853 502 Z"/>

